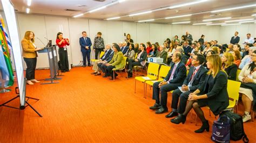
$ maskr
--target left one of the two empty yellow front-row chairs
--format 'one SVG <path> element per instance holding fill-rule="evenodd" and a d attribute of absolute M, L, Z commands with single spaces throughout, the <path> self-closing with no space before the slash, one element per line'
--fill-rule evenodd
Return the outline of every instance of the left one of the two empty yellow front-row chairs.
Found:
<path fill-rule="evenodd" d="M 145 81 L 153 81 L 153 80 L 157 79 L 159 66 L 160 65 L 157 63 L 149 63 L 149 68 L 147 69 L 147 76 L 136 76 L 135 77 L 134 93 L 136 93 L 136 81 L 141 81 L 144 83 L 143 84 L 144 98 L 146 98 L 145 97 Z"/>

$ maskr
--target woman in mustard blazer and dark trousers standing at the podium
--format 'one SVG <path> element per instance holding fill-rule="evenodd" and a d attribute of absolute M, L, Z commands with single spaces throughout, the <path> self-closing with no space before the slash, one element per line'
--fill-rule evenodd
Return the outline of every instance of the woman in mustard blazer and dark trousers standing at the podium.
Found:
<path fill-rule="evenodd" d="M 35 70 L 37 62 L 36 51 L 42 48 L 36 48 L 35 34 L 32 31 L 26 31 L 22 40 L 22 55 L 26 63 L 26 83 L 33 85 L 33 82 L 39 82 L 35 79 Z"/>

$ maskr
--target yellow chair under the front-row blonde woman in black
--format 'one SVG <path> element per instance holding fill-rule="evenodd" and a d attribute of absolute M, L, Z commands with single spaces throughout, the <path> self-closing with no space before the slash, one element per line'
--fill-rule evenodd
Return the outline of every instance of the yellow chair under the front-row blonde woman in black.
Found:
<path fill-rule="evenodd" d="M 237 103 L 238 103 L 238 99 L 239 99 L 240 85 L 241 85 L 241 82 L 227 80 L 227 94 L 228 94 L 228 98 L 229 98 L 229 105 L 227 106 L 226 110 L 234 109 L 234 106 L 236 106 L 235 109 L 238 111 Z M 211 116 L 210 108 L 208 106 L 206 108 L 209 109 L 209 114 Z M 196 116 L 196 123 L 197 123 L 197 116 Z"/>

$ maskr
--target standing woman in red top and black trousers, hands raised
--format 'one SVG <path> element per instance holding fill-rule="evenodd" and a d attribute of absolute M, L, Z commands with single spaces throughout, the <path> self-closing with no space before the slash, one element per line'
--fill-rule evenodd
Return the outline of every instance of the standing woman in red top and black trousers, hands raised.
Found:
<path fill-rule="evenodd" d="M 56 44 L 59 47 L 59 60 L 62 73 L 69 71 L 69 59 L 68 59 L 68 50 L 66 46 L 69 46 L 69 39 L 63 38 L 63 33 L 59 32 L 57 34 Z"/>

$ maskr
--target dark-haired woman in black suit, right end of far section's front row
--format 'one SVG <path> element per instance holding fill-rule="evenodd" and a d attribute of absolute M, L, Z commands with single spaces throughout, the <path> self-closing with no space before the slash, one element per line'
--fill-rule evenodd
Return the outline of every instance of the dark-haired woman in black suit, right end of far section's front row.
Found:
<path fill-rule="evenodd" d="M 146 58 L 147 58 L 147 52 L 146 52 L 146 46 L 145 44 L 139 45 L 139 50 L 137 58 L 136 59 L 129 59 L 128 63 L 128 78 L 132 77 L 132 68 L 134 66 L 145 66 L 146 64 Z"/>

